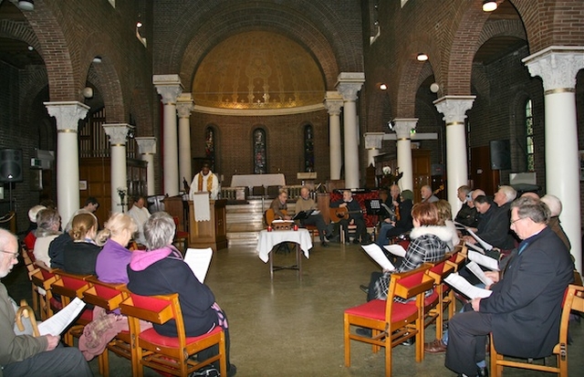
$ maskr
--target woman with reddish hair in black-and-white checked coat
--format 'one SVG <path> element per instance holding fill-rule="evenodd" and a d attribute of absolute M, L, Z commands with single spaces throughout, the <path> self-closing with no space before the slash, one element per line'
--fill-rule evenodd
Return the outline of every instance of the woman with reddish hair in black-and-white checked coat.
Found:
<path fill-rule="evenodd" d="M 411 271 L 424 262 L 442 259 L 448 251 L 448 242 L 452 242 L 453 233 L 445 226 L 440 226 L 440 217 L 436 204 L 419 203 L 412 208 L 413 229 L 410 233 L 412 242 L 405 252 L 405 257 L 395 271 L 372 272 L 367 292 L 367 300 L 387 299 L 389 281 L 393 272 Z"/>

